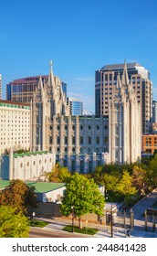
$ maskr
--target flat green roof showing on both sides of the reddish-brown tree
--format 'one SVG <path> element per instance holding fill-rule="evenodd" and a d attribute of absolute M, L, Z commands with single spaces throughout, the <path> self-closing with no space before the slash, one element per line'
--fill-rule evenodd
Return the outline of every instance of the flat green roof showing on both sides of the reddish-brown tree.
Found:
<path fill-rule="evenodd" d="M 4 189 L 6 186 L 10 184 L 9 180 L 0 180 L 0 189 Z M 36 188 L 35 192 L 37 193 L 47 193 L 52 190 L 56 190 L 60 187 L 65 187 L 65 183 L 53 183 L 53 182 L 33 182 L 26 181 L 26 185 L 34 186 Z"/>

